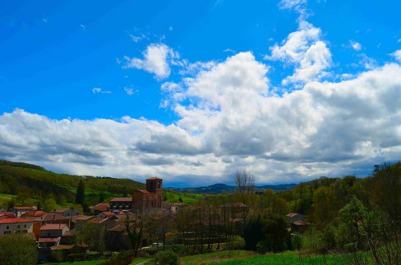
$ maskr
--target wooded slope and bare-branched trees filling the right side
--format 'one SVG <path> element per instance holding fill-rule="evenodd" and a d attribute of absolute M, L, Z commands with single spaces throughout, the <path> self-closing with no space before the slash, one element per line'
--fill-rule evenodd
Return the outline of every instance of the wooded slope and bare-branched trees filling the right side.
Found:
<path fill-rule="evenodd" d="M 286 191 L 255 194 L 253 176 L 239 171 L 237 192 L 204 196 L 178 213 L 187 252 L 245 247 L 297 249 L 300 257 L 331 253 L 347 264 L 401 263 L 401 163 L 375 165 L 370 176 L 321 177 Z M 291 229 L 289 212 L 306 215 Z M 302 231 L 302 232 L 301 232 Z M 164 238 L 164 237 L 162 237 Z"/>

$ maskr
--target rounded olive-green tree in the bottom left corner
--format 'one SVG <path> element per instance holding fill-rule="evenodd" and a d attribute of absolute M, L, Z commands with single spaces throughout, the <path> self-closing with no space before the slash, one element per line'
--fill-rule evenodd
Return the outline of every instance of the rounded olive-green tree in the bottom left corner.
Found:
<path fill-rule="evenodd" d="M 37 261 L 37 245 L 32 234 L 10 233 L 0 236 L 0 264 L 34 265 Z"/>

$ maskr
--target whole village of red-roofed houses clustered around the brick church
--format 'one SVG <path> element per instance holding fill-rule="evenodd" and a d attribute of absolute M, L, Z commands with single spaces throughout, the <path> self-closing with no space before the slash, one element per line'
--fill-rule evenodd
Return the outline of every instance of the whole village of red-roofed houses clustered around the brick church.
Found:
<path fill-rule="evenodd" d="M 211 236 L 209 233 L 207 238 L 205 233 L 200 238 L 199 231 L 195 228 L 197 220 L 192 223 L 193 230 L 188 227 L 185 234 L 181 235 L 178 225 L 188 226 L 188 223 L 185 224 L 179 218 L 185 217 L 183 211 L 188 205 L 182 202 L 164 202 L 162 181 L 158 177 L 147 178 L 146 189 L 137 189 L 131 197 L 115 197 L 108 203 L 92 205 L 89 207 L 90 213 L 80 212 L 75 207 L 58 208 L 50 212 L 37 206 L 11 207 L 8 211 L 0 212 L 0 236 L 10 233 L 32 234 L 37 243 L 39 260 L 46 261 L 51 260 L 56 251 L 62 251 L 65 256 L 80 253 L 77 258 L 82 259 L 82 255 L 90 248 L 102 252 L 154 248 L 154 253 L 165 244 L 202 244 L 203 248 L 204 244 L 213 246 L 215 243 L 219 249 L 223 248 L 223 243 L 226 247 L 229 239 L 227 235 L 221 236 L 217 230 L 227 229 L 222 227 L 227 225 L 231 225 L 233 231 L 243 229 L 238 227 L 244 221 L 242 213 L 244 210 L 248 212 L 249 207 L 245 203 L 228 202 L 218 206 L 221 214 L 229 211 L 229 218 L 227 223 L 221 223 L 217 218 L 213 220 L 215 235 Z M 303 214 L 289 213 L 286 217 L 291 224 L 288 228 L 291 232 L 303 231 L 309 224 Z M 136 241 L 130 238 L 132 231 L 140 234 Z M 101 249 L 98 246 L 89 246 L 85 239 L 79 240 L 80 234 L 88 232 L 93 233 L 89 237 L 97 241 L 95 244 L 98 241 L 103 242 Z M 219 235 L 216 236 L 217 234 Z M 169 240 L 166 239 L 167 235 Z"/>

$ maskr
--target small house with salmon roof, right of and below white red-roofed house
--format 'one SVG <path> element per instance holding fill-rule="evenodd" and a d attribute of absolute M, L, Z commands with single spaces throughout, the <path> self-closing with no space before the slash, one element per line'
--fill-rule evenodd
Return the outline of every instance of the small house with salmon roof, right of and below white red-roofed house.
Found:
<path fill-rule="evenodd" d="M 63 233 L 70 228 L 65 223 L 48 223 L 40 228 L 39 247 L 55 247 L 60 244 Z"/>

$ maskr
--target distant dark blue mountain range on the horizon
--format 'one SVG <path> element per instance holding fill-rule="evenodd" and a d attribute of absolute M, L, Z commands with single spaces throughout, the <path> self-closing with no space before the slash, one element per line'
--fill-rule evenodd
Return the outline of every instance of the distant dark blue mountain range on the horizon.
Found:
<path fill-rule="evenodd" d="M 274 191 L 291 189 L 297 184 L 279 184 L 279 185 L 261 185 L 255 186 L 256 191 L 264 191 L 267 188 L 273 189 Z M 167 189 L 174 192 L 186 192 L 186 193 L 209 193 L 209 194 L 219 194 L 223 190 L 227 192 L 233 192 L 237 189 L 237 186 L 231 186 L 224 183 L 216 183 L 209 186 L 202 187 L 168 187 Z"/>

